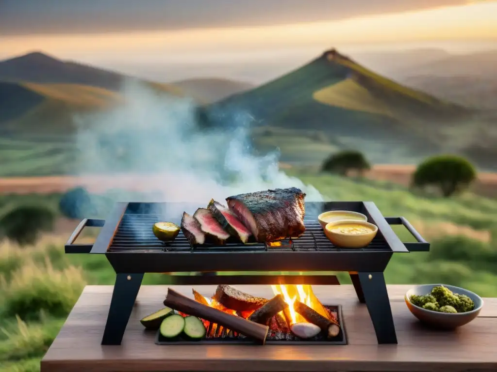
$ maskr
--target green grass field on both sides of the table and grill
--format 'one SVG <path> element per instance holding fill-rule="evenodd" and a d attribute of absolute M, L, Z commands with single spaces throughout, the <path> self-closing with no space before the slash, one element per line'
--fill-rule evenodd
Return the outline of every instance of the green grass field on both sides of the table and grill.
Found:
<path fill-rule="evenodd" d="M 292 169 L 289 175 L 316 186 L 332 200 L 371 200 L 387 216 L 405 216 L 420 231 L 429 227 L 429 253 L 398 254 L 385 275 L 388 283 L 447 283 L 481 296 L 497 296 L 497 200 L 470 193 L 451 199 L 416 196 L 401 186 L 343 179 Z M 12 202 L 57 206 L 60 195 L 6 195 L 0 210 Z M 455 227 L 444 230 L 444 224 Z M 488 239 L 458 235 L 463 229 Z M 439 230 L 438 230 L 439 229 Z M 403 241 L 413 241 L 396 227 Z M 66 255 L 66 236 L 44 236 L 35 246 L 0 245 L 0 365 L 2 372 L 38 371 L 39 361 L 86 284 L 113 284 L 114 272 L 105 257 Z M 191 273 L 183 273 L 190 275 Z M 342 283 L 346 274 L 338 273 Z M 174 283 L 173 277 L 146 274 L 144 284 Z"/>

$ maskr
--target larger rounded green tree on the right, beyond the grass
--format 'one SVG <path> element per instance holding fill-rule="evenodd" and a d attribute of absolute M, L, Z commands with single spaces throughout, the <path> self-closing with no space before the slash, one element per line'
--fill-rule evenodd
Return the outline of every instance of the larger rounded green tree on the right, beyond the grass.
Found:
<path fill-rule="evenodd" d="M 412 183 L 417 187 L 436 186 L 444 197 L 466 189 L 476 179 L 473 165 L 460 156 L 440 155 L 419 164 Z"/>

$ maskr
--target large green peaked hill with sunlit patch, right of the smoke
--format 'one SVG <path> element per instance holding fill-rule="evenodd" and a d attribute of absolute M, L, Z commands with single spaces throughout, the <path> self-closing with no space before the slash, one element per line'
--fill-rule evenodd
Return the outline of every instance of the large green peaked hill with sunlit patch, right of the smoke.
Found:
<path fill-rule="evenodd" d="M 462 106 L 398 84 L 335 50 L 211 105 L 207 113 L 240 109 L 260 125 L 321 130 L 366 152 L 376 146 L 384 154 L 410 155 L 438 151 L 445 124 L 470 115 Z M 388 162 L 384 155 L 382 162 Z"/>

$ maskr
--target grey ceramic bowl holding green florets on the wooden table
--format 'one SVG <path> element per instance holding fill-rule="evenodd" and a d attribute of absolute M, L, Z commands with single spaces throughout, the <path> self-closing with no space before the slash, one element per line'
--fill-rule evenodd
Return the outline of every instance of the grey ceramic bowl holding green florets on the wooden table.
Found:
<path fill-rule="evenodd" d="M 438 312 L 432 310 L 426 310 L 420 308 L 411 303 L 409 300 L 412 295 L 424 296 L 431 292 L 433 287 L 444 286 L 450 289 L 454 293 L 458 293 L 460 295 L 468 296 L 475 303 L 475 309 L 467 312 L 458 312 L 456 313 L 448 313 L 448 312 Z M 451 286 L 448 284 L 424 284 L 419 285 L 414 288 L 411 288 L 407 291 L 404 296 L 406 301 L 406 305 L 409 310 L 413 313 L 413 315 L 418 318 L 421 322 L 432 326 L 434 328 L 442 328 L 442 329 L 454 329 L 460 327 L 462 325 L 468 324 L 470 321 L 475 319 L 480 310 L 483 308 L 483 300 L 476 293 L 468 291 L 467 289 Z"/>

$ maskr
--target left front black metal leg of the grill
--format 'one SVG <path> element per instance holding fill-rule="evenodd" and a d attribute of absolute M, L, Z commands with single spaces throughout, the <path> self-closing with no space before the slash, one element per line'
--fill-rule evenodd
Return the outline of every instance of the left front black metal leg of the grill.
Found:
<path fill-rule="evenodd" d="M 142 279 L 143 274 L 116 275 L 102 345 L 121 345 Z"/>

